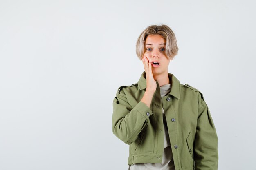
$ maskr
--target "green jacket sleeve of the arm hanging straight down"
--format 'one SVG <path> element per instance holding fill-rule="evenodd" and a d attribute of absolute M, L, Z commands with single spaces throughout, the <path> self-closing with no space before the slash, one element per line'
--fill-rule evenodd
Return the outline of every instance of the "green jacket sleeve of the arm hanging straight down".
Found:
<path fill-rule="evenodd" d="M 210 110 L 203 98 L 199 102 L 194 143 L 195 170 L 218 169 L 218 137 Z"/>

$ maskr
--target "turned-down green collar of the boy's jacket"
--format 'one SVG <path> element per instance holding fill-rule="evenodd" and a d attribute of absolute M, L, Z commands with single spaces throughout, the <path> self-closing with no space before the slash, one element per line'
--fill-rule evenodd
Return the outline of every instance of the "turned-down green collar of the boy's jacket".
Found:
<path fill-rule="evenodd" d="M 180 81 L 171 73 L 168 73 L 168 77 L 171 79 L 171 91 L 168 94 L 180 99 Z M 145 71 L 143 71 L 141 77 L 139 78 L 138 86 L 140 90 L 144 90 L 147 87 Z M 157 86 L 159 86 L 158 82 Z"/>

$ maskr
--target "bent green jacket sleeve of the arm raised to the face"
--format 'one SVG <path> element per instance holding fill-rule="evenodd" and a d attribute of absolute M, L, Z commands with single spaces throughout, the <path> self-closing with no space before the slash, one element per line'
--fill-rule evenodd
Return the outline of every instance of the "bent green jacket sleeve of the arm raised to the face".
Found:
<path fill-rule="evenodd" d="M 152 110 L 141 101 L 132 108 L 121 89 L 113 100 L 112 131 L 124 143 L 132 144 L 152 114 Z"/>

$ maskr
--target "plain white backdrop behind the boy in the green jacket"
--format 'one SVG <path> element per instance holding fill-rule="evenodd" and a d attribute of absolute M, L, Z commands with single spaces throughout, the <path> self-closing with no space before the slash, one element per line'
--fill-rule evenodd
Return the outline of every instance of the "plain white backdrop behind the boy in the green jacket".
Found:
<path fill-rule="evenodd" d="M 255 170 L 253 0 L 0 0 L 0 170 L 126 170 L 112 133 L 117 88 L 144 71 L 152 24 L 174 31 L 168 71 L 204 95 L 218 170 Z"/>

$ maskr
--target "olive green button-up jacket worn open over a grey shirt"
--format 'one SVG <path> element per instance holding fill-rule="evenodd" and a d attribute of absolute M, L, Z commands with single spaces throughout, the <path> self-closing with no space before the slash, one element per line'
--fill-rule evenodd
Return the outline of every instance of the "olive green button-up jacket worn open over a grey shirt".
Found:
<path fill-rule="evenodd" d="M 129 144 L 128 165 L 162 163 L 164 124 L 176 170 L 217 170 L 218 137 L 210 110 L 196 88 L 180 84 L 173 74 L 171 91 L 160 95 L 159 83 L 150 108 L 141 98 L 146 91 L 146 73 L 130 86 L 121 86 L 113 100 L 112 131 Z"/>

